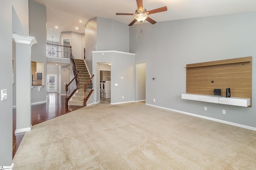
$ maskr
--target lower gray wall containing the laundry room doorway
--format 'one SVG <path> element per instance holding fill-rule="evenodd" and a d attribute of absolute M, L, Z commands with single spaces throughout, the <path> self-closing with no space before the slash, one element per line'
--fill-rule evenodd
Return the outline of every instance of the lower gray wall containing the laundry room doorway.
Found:
<path fill-rule="evenodd" d="M 130 53 L 117 53 L 117 52 L 102 52 L 97 51 L 92 53 L 92 67 L 94 73 L 93 87 L 95 88 L 94 103 L 98 102 L 99 80 L 100 80 L 100 63 L 111 63 L 111 103 L 122 103 L 134 101 L 135 92 L 135 68 L 134 68 L 134 55 Z M 121 79 L 124 77 L 124 79 Z M 115 86 L 115 83 L 118 86 Z M 124 96 L 124 99 L 122 99 Z"/>

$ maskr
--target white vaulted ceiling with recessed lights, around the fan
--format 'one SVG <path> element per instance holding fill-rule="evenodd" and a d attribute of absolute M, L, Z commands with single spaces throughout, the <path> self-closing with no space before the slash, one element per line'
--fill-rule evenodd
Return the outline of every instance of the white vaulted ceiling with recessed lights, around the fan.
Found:
<path fill-rule="evenodd" d="M 52 28 L 47 30 L 47 40 L 52 41 L 53 36 L 54 42 L 59 41 L 60 32 L 84 33 L 86 23 L 94 17 L 109 18 L 128 25 L 134 20 L 134 16 L 117 16 L 116 13 L 135 13 L 137 9 L 136 0 L 34 1 L 46 6 L 47 27 Z M 256 11 L 256 0 L 143 0 L 143 7 L 148 11 L 163 6 L 167 6 L 168 10 L 152 14 L 150 18 L 161 22 Z M 79 20 L 82 20 L 82 23 Z"/>

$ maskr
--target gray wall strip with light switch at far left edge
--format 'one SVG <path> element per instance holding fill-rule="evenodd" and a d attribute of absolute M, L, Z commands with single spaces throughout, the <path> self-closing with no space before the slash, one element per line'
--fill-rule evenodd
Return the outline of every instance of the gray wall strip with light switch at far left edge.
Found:
<path fill-rule="evenodd" d="M 0 89 L 7 89 L 8 97 L 0 101 L 0 165 L 12 165 L 12 1 L 0 2 Z M 4 16 L 4 17 L 2 17 Z"/>

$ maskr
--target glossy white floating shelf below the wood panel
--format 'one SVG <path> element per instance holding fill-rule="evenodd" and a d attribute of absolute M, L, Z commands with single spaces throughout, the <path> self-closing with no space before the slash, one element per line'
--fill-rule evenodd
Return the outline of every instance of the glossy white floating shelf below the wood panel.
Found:
<path fill-rule="evenodd" d="M 222 97 L 214 95 L 198 95 L 185 93 L 181 95 L 181 98 L 187 100 L 204 101 L 209 103 L 219 103 L 224 105 L 234 105 L 242 107 L 248 107 L 251 105 L 251 99 L 241 97 Z"/>

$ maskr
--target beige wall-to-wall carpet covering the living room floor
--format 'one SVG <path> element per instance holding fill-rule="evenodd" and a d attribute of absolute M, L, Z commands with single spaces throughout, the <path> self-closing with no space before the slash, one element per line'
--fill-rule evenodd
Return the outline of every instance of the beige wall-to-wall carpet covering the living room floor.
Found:
<path fill-rule="evenodd" d="M 256 169 L 256 132 L 144 105 L 98 104 L 26 132 L 14 170 Z"/>

